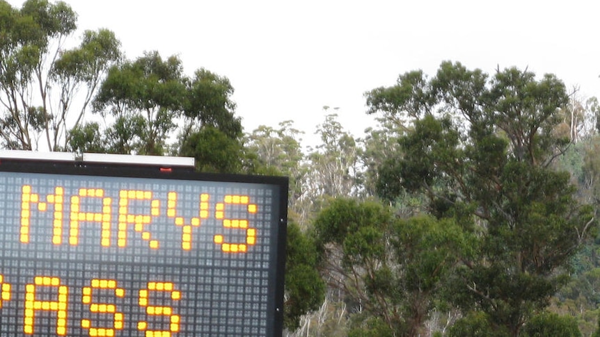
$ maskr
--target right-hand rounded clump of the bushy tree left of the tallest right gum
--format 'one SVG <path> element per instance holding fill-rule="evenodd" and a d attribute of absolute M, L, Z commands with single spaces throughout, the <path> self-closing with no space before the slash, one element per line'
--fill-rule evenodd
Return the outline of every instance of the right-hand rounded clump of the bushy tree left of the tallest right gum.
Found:
<path fill-rule="evenodd" d="M 418 336 L 429 313 L 448 305 L 452 275 L 459 259 L 469 256 L 473 238 L 452 219 L 418 216 L 397 222 L 390 240 L 404 336 Z"/>

